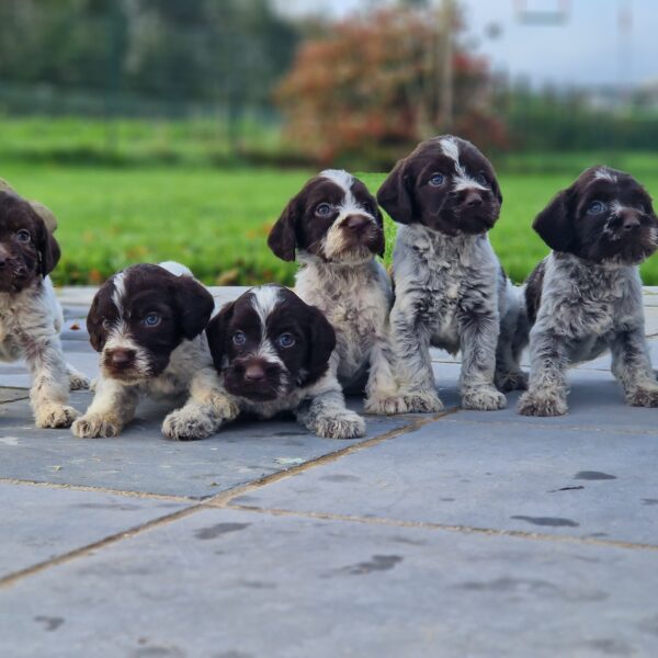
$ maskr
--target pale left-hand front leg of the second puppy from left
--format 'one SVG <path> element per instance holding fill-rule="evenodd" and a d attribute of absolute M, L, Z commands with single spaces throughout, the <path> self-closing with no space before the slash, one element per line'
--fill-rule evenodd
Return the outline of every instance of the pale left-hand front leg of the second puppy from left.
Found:
<path fill-rule="evenodd" d="M 71 427 L 80 439 L 117 436 L 124 427 L 135 418 L 139 394 L 135 386 L 124 386 L 116 379 L 99 377 L 93 401 L 84 416 Z"/>

